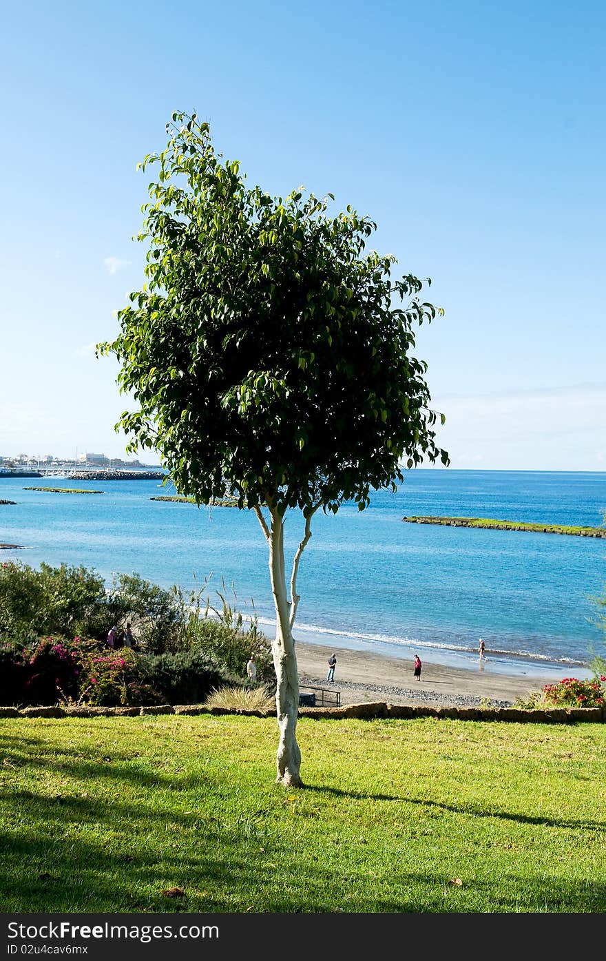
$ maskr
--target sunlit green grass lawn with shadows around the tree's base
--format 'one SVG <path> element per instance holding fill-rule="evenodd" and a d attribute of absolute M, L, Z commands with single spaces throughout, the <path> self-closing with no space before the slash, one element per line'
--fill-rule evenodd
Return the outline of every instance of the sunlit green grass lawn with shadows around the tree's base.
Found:
<path fill-rule="evenodd" d="M 298 732 L 294 791 L 271 718 L 0 721 L 3 910 L 606 909 L 606 725 Z"/>

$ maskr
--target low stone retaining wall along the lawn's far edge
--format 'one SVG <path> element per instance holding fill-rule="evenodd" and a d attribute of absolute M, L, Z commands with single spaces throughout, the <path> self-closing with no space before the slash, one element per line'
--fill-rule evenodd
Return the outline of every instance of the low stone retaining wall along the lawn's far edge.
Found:
<path fill-rule="evenodd" d="M 0 718 L 94 718 L 140 717 L 161 714 L 236 714 L 244 717 L 276 717 L 276 711 L 232 710 L 228 707 L 205 707 L 203 704 L 157 704 L 151 707 L 0 707 Z M 300 707 L 299 717 L 338 721 L 341 718 L 448 718 L 456 721 L 517 721 L 538 724 L 572 724 L 577 721 L 606 721 L 604 707 L 553 707 L 524 710 L 521 707 L 431 707 L 414 704 L 390 704 L 384 701 L 347 704 L 343 707 Z"/>

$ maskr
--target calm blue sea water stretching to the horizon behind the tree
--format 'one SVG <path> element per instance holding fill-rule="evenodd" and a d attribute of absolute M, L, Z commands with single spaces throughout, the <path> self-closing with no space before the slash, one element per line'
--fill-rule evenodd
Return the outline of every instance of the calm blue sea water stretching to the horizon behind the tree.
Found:
<path fill-rule="evenodd" d="M 90 496 L 28 491 L 35 484 L 103 490 Z M 0 542 L 18 559 L 137 572 L 161 585 L 201 587 L 211 602 L 222 579 L 245 613 L 271 633 L 274 607 L 266 543 L 254 514 L 155 502 L 174 493 L 158 480 L 72 481 L 0 478 Z M 359 512 L 316 515 L 299 572 L 295 637 L 311 643 L 389 653 L 477 669 L 554 677 L 583 669 L 604 652 L 592 598 L 606 582 L 606 540 L 521 531 L 402 523 L 415 514 L 490 517 L 599 526 L 606 474 L 409 471 L 396 494 L 376 492 Z M 289 514 L 291 555 L 303 523 Z"/>

